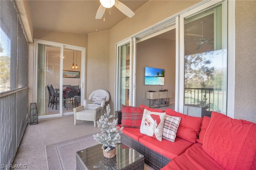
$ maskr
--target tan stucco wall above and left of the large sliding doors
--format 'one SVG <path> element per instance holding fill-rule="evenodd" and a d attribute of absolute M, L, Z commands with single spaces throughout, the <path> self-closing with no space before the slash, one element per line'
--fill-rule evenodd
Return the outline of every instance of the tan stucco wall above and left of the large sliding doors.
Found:
<path fill-rule="evenodd" d="M 110 30 L 109 91 L 111 96 L 115 93 L 115 44 L 198 2 L 200 1 L 149 1 L 134 12 L 135 16 L 124 19 Z M 113 111 L 114 97 L 110 101 L 110 107 Z"/>

